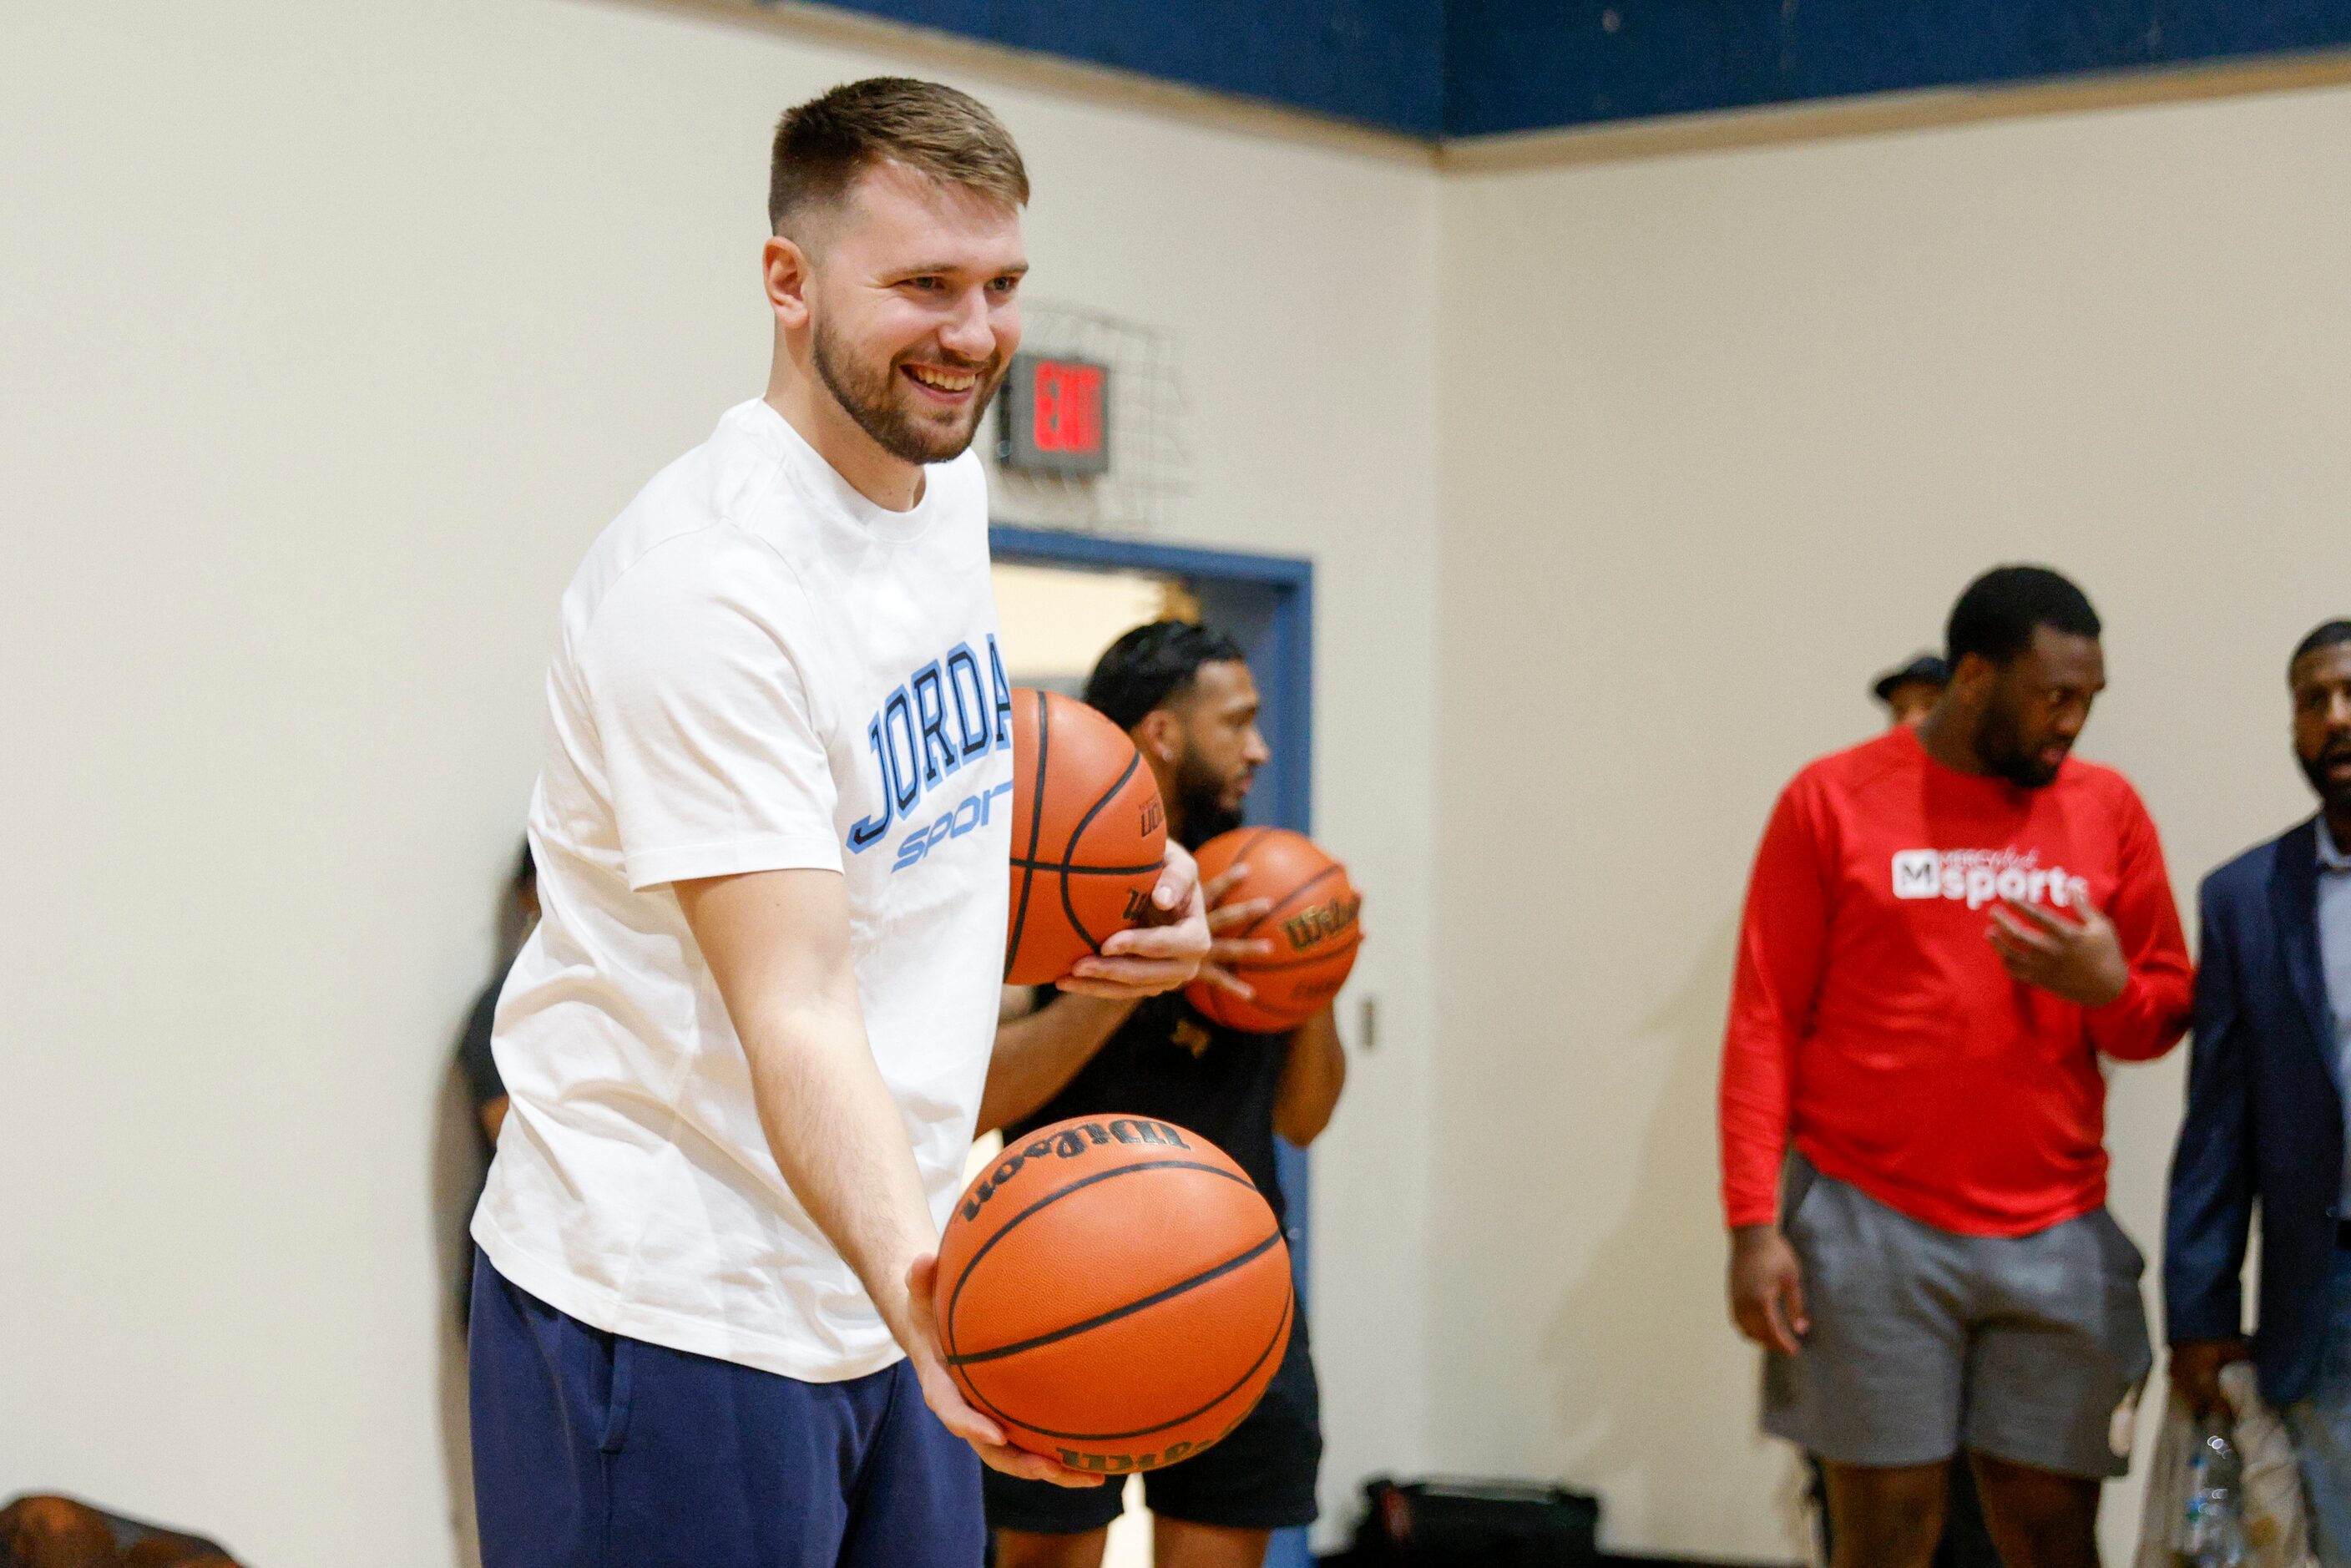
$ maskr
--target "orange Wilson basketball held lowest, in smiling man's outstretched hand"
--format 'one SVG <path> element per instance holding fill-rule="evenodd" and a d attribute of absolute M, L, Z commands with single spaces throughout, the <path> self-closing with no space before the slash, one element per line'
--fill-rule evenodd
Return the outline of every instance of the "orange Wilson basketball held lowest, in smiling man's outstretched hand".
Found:
<path fill-rule="evenodd" d="M 1159 1469 L 1232 1432 L 1272 1382 L 1291 1248 L 1199 1133 L 1079 1117 L 964 1190 L 933 1305 L 955 1382 L 1013 1443 L 1070 1469 Z"/>

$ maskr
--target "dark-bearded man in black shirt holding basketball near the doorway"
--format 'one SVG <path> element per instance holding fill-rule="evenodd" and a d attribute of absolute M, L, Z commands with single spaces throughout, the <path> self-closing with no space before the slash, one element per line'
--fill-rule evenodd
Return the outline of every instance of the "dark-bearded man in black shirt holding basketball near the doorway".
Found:
<path fill-rule="evenodd" d="M 1086 682 L 1086 703 L 1136 741 L 1159 780 L 1168 832 L 1199 849 L 1241 825 L 1241 802 L 1267 759 L 1258 686 L 1241 649 L 1185 621 L 1154 621 L 1110 644 Z M 1215 900 L 1246 863 L 1204 891 Z M 1272 943 L 1225 936 L 1270 900 L 1208 914 L 1215 945 L 1201 978 L 1248 994 L 1225 964 L 1265 957 Z M 1288 1034 L 1244 1034 L 1211 1023 L 1180 994 L 1128 1001 L 1091 992 L 1089 964 L 1044 1004 L 1016 994 L 997 1027 L 980 1098 L 980 1128 L 1018 1143 L 1030 1128 L 1105 1112 L 1192 1128 L 1248 1171 L 1284 1213 L 1274 1133 L 1305 1147 L 1331 1121 L 1347 1058 L 1324 1009 Z M 1305 1319 L 1265 1399 L 1223 1443 L 1143 1479 L 1154 1514 L 1157 1568 L 1258 1568 L 1272 1530 L 1314 1521 L 1321 1460 L 1314 1361 Z M 1098 1568 L 1119 1488 L 1065 1490 L 987 1474 L 997 1568 Z"/>

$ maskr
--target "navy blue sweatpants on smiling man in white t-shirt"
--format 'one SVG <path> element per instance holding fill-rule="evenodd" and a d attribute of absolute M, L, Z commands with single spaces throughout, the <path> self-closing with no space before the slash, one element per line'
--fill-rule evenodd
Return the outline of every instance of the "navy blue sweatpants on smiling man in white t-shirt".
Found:
<path fill-rule="evenodd" d="M 905 1361 L 797 1382 L 473 1269 L 482 1568 L 978 1568 L 980 1460 Z"/>

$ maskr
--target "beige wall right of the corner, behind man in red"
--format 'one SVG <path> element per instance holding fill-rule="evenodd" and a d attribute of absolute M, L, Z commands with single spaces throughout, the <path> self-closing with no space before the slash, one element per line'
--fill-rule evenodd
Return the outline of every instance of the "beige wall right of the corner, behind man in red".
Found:
<path fill-rule="evenodd" d="M 1794 1544 L 1721 1312 L 1730 933 L 1773 792 L 1968 576 L 2090 588 L 2083 750 L 2184 898 L 2306 811 L 2283 661 L 2351 609 L 2346 167 L 2327 92 L 1448 181 L 1444 1465 L 1596 1486 L 1625 1544 Z M 2177 1093 L 2114 1077 L 2149 1251 Z"/>

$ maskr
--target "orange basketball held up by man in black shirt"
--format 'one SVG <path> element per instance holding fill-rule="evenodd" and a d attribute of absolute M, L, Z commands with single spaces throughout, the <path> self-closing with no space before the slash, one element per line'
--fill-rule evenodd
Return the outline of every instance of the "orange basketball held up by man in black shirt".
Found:
<path fill-rule="evenodd" d="M 1248 875 L 1218 903 L 1272 898 L 1274 907 L 1246 929 L 1220 936 L 1272 938 L 1274 952 L 1232 964 L 1232 973 L 1248 980 L 1255 997 L 1241 999 L 1194 980 L 1185 999 L 1220 1025 L 1251 1034 L 1295 1030 L 1328 1006 L 1354 969 L 1354 950 L 1364 945 L 1364 896 L 1347 882 L 1347 867 L 1288 827 L 1220 832 L 1199 846 L 1197 860 L 1201 884 L 1248 863 Z"/>

